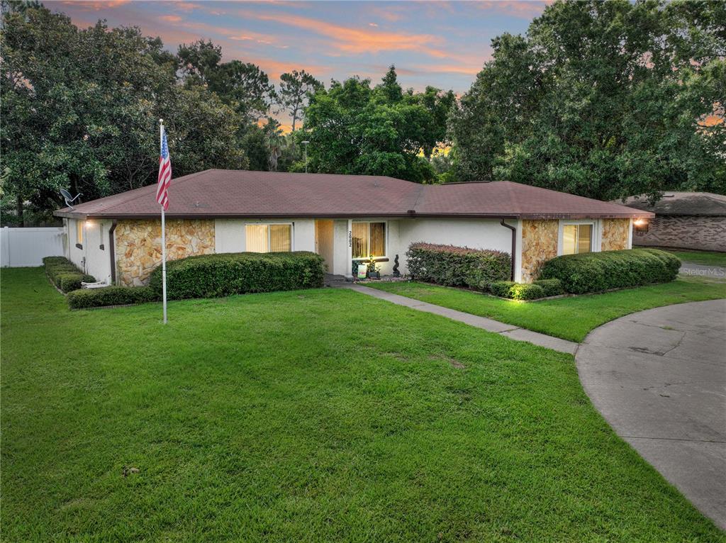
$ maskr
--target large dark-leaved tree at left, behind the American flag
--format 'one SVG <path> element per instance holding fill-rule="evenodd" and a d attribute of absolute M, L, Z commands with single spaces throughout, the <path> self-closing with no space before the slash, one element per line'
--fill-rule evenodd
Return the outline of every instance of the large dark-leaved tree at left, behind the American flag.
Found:
<path fill-rule="evenodd" d="M 60 188 L 90 200 L 154 182 L 159 118 L 175 176 L 245 167 L 237 114 L 202 86 L 179 86 L 158 38 L 101 22 L 78 30 L 65 15 L 14 6 L 0 36 L 0 145 L 19 219 L 25 202 L 60 207 Z"/>

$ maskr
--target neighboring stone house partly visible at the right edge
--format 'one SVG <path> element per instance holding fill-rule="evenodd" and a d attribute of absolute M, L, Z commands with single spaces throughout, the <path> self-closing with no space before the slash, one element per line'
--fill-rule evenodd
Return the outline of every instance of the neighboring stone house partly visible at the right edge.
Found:
<path fill-rule="evenodd" d="M 625 205 L 656 214 L 636 224 L 634 245 L 726 251 L 726 196 L 666 192 L 655 204 L 645 196 L 631 196 Z"/>

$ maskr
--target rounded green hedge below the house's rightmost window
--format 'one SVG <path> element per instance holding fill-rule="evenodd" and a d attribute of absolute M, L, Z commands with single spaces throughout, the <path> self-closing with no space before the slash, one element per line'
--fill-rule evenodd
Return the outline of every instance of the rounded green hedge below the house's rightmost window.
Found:
<path fill-rule="evenodd" d="M 675 279 L 680 260 L 658 249 L 608 250 L 552 258 L 542 266 L 540 279 L 560 279 L 568 293 L 597 293 Z"/>

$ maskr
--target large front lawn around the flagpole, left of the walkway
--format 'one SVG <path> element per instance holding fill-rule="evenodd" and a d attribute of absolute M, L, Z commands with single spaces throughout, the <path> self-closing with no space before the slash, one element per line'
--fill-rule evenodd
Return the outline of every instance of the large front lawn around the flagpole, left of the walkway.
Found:
<path fill-rule="evenodd" d="M 566 354 L 348 290 L 1 288 L 3 541 L 725 540 Z"/>

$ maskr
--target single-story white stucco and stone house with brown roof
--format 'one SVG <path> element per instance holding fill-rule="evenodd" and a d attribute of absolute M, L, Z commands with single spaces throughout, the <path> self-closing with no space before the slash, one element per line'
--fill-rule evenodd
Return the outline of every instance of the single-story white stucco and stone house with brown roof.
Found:
<path fill-rule="evenodd" d="M 207 170 L 174 179 L 166 212 L 169 260 L 209 253 L 309 250 L 351 276 L 374 256 L 406 273 L 412 242 L 502 250 L 531 282 L 555 256 L 631 246 L 633 219 L 615 203 L 509 181 L 423 185 L 378 176 Z M 155 186 L 55 212 L 68 258 L 99 281 L 143 285 L 160 264 Z"/>

